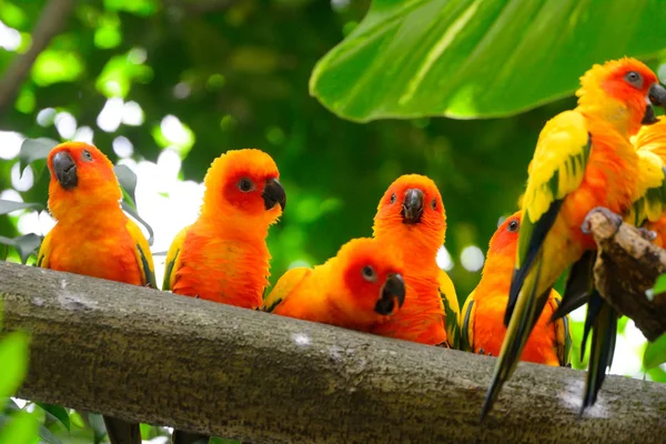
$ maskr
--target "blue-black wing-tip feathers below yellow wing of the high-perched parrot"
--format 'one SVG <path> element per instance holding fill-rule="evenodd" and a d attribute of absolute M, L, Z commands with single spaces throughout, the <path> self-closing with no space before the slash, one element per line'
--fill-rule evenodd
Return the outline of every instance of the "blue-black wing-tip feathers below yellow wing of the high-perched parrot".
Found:
<path fill-rule="evenodd" d="M 544 241 L 546 240 L 546 235 L 553 228 L 557 215 L 559 214 L 559 208 L 564 202 L 563 199 L 553 201 L 548 211 L 543 214 L 539 220 L 532 226 L 531 233 L 524 233 L 521 229 L 521 236 L 527 235 L 529 236 L 529 244 L 527 246 L 527 253 L 524 260 L 521 263 L 521 268 L 514 271 L 513 279 L 511 280 L 511 289 L 508 291 L 508 303 L 506 304 L 506 312 L 504 313 L 504 325 L 508 325 L 511 317 L 513 316 L 514 309 L 518 301 L 518 294 L 521 293 L 521 289 L 527 275 L 529 274 L 529 270 L 532 269 L 532 264 L 539 255 L 542 251 L 542 246 Z M 523 228 L 526 226 L 525 221 L 528 215 L 523 214 Z M 521 242 L 521 238 L 518 238 L 518 242 Z"/>

